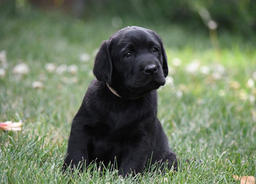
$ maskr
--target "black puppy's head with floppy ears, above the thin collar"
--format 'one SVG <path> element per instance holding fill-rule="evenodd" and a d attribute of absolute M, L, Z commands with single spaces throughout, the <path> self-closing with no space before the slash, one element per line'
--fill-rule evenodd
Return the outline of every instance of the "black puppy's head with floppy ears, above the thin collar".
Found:
<path fill-rule="evenodd" d="M 103 41 L 93 73 L 123 98 L 144 95 L 165 84 L 167 57 L 158 34 L 142 27 L 126 27 Z"/>

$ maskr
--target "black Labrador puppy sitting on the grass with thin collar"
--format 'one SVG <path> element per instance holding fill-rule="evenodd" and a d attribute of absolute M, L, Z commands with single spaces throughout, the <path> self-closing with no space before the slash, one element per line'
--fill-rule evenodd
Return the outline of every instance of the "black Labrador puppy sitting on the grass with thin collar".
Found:
<path fill-rule="evenodd" d="M 157 119 L 157 91 L 168 75 L 161 38 L 126 27 L 103 41 L 91 82 L 73 119 L 63 168 L 116 159 L 118 173 L 142 172 L 148 161 L 177 166 Z M 151 158 L 152 156 L 152 158 Z"/>

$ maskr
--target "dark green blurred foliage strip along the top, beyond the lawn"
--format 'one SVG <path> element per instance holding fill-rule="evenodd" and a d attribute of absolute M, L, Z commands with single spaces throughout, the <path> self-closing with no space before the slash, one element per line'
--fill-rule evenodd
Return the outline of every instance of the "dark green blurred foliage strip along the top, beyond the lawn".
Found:
<path fill-rule="evenodd" d="M 2 2 L 2 3 L 1 3 Z M 200 10 L 206 9 L 220 30 L 239 32 L 247 37 L 256 31 L 255 0 L 2 0 L 3 9 L 16 13 L 25 5 L 58 7 L 84 19 L 117 16 L 156 24 L 167 22 L 204 27 Z M 6 8 L 8 7 L 8 8 Z M 2 9 L 2 8 L 1 8 Z"/>

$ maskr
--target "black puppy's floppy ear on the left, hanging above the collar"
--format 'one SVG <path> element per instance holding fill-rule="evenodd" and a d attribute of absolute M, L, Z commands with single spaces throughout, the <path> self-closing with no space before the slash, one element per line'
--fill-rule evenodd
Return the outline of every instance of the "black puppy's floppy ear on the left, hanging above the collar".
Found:
<path fill-rule="evenodd" d="M 109 41 L 102 42 L 98 53 L 96 54 L 93 74 L 100 81 L 112 83 L 112 61 L 109 54 Z"/>

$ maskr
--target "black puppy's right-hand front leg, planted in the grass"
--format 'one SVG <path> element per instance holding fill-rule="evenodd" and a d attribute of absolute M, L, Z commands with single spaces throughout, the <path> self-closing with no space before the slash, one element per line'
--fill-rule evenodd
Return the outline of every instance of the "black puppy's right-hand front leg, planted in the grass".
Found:
<path fill-rule="evenodd" d="M 149 149 L 150 138 L 145 136 L 139 141 L 133 141 L 123 150 L 121 157 L 121 165 L 118 168 L 118 174 L 125 176 L 131 172 L 142 172 L 147 160 L 147 153 Z M 117 160 L 118 162 L 118 160 Z M 133 173 L 133 174 L 134 174 Z"/>

